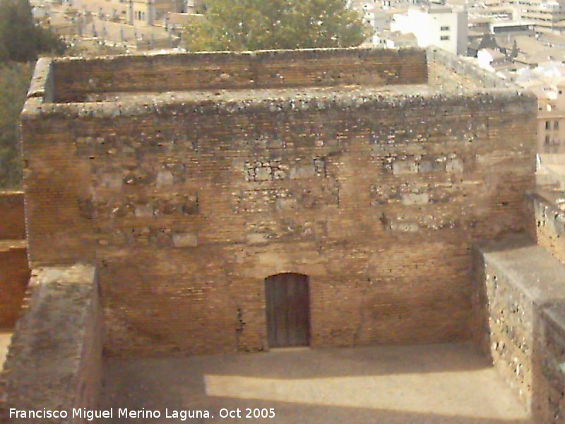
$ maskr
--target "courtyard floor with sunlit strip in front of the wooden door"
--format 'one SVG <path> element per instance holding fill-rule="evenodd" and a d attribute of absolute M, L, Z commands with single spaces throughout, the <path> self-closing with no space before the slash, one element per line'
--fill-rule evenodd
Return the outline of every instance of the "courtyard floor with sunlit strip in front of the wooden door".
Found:
<path fill-rule="evenodd" d="M 102 408 L 114 418 L 104 422 L 181 423 L 167 413 L 188 410 L 210 414 L 191 423 L 530 423 L 468 343 L 109 359 L 105 372 Z M 118 408 L 161 417 L 124 420 Z M 241 418 L 220 418 L 222 408 Z M 246 408 L 275 418 L 245 418 Z"/>

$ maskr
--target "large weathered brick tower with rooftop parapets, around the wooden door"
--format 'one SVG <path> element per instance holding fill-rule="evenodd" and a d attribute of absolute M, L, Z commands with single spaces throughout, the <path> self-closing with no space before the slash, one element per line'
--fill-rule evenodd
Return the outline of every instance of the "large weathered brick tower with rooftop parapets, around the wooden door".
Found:
<path fill-rule="evenodd" d="M 267 348 L 283 272 L 310 278 L 312 346 L 468 338 L 471 243 L 531 219 L 536 100 L 446 57 L 42 61 L 32 266 L 97 266 L 109 354 Z"/>

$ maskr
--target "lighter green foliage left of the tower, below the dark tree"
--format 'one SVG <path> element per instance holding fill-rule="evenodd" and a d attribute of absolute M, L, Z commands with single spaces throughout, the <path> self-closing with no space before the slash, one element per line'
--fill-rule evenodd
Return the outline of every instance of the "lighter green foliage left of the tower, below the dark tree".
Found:
<path fill-rule="evenodd" d="M 31 64 L 0 66 L 0 187 L 21 185 L 20 112 L 32 74 Z"/>

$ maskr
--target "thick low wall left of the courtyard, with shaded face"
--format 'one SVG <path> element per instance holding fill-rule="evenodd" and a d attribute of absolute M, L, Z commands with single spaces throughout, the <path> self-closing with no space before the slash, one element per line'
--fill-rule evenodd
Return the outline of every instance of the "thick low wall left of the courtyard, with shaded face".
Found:
<path fill-rule="evenodd" d="M 102 382 L 102 319 L 93 266 L 32 273 L 25 314 L 1 375 L 0 422 L 30 423 L 23 412 L 60 411 L 41 423 L 86 423 L 73 408 L 95 408 Z M 14 411 L 20 411 L 16 417 Z"/>

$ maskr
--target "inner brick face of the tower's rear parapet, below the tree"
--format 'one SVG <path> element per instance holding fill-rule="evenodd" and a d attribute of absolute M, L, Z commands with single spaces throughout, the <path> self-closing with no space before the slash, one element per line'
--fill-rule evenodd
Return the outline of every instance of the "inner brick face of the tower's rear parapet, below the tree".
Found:
<path fill-rule="evenodd" d="M 417 84 L 420 49 L 311 49 L 55 59 L 55 102 L 104 93 Z"/>

